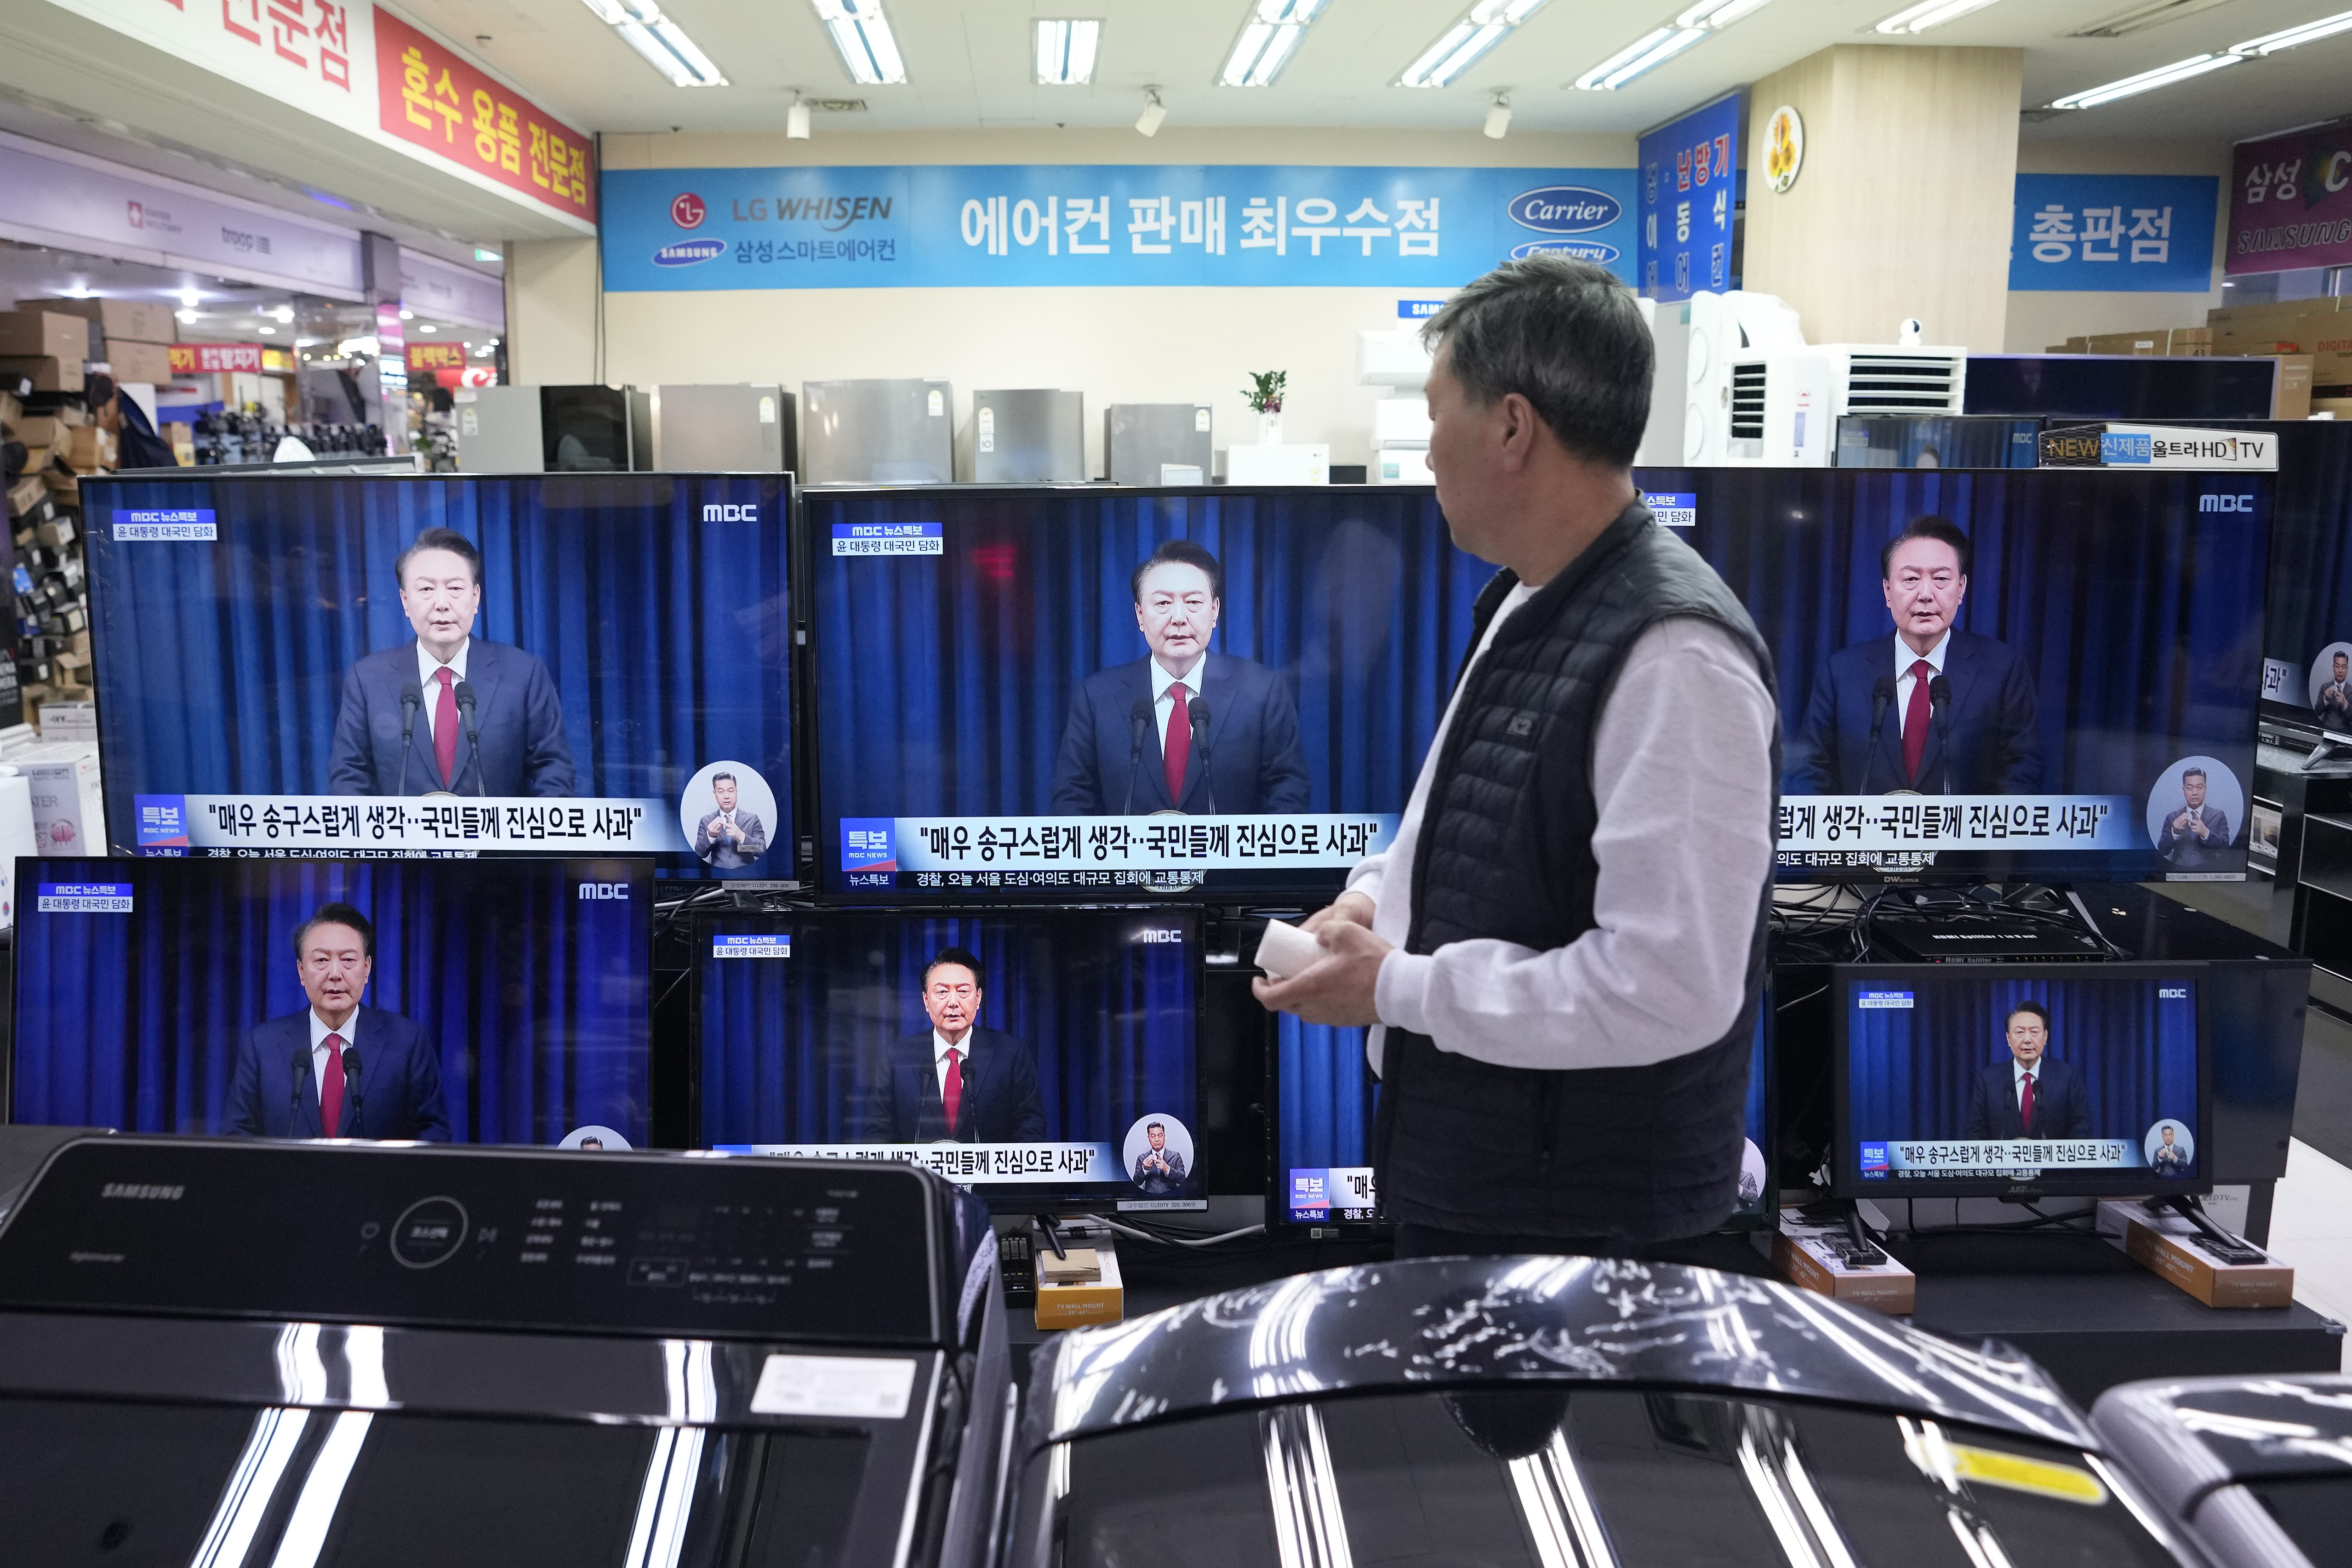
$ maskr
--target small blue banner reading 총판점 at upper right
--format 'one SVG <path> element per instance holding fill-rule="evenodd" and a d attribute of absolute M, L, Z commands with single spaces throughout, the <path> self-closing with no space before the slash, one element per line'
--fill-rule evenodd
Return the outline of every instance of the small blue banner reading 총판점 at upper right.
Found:
<path fill-rule="evenodd" d="M 2204 294 L 2218 214 L 2213 174 L 2020 174 L 2009 287 Z"/>

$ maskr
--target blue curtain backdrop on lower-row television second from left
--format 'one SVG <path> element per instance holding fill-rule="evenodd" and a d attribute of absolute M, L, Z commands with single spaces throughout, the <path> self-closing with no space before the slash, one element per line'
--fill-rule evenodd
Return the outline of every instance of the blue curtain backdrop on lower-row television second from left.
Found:
<path fill-rule="evenodd" d="M 793 957 L 701 954 L 701 1140 L 856 1143 L 861 1053 L 931 1027 L 922 969 L 943 947 L 981 959 L 978 1027 L 1035 1053 L 1049 1140 L 1117 1143 L 1145 1112 L 1192 1126 L 1200 947 L 1136 943 L 1129 924 L 1112 914 L 729 924 L 790 931 Z"/>

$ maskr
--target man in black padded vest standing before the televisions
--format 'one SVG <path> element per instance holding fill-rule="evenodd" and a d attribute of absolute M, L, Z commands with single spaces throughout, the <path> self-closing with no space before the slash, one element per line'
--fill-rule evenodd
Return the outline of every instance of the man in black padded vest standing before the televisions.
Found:
<path fill-rule="evenodd" d="M 1256 994 L 1381 1025 L 1399 1255 L 1715 1260 L 1771 905 L 1771 656 L 1639 505 L 1651 341 L 1616 277 L 1510 261 L 1425 336 L 1437 503 L 1503 571 L 1390 849 L 1305 922 L 1324 957 Z"/>

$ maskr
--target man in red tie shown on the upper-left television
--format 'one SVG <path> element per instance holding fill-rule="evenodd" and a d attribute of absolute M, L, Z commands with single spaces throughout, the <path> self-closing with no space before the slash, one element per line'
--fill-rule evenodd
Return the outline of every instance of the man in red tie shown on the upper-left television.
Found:
<path fill-rule="evenodd" d="M 482 552 L 454 529 L 426 529 L 393 562 L 393 574 L 416 642 L 350 665 L 327 788 L 569 797 L 572 743 L 555 679 L 536 656 L 473 635 Z M 461 693 L 473 696 L 470 719 Z"/>

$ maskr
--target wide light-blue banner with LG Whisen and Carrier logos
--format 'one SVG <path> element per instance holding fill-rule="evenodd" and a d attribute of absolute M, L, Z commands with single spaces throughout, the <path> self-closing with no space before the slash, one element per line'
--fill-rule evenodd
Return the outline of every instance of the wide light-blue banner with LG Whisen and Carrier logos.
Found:
<path fill-rule="evenodd" d="M 604 287 L 1435 287 L 1566 252 L 1632 280 L 1632 169 L 604 169 Z"/>

